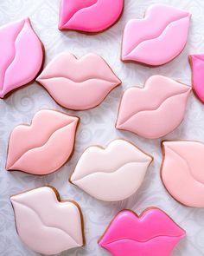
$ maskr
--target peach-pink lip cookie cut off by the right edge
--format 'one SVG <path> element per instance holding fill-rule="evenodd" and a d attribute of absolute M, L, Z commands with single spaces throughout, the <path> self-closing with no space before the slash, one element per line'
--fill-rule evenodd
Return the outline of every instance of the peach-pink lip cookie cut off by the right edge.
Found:
<path fill-rule="evenodd" d="M 162 149 L 161 178 L 169 194 L 188 207 L 204 207 L 204 144 L 163 141 Z"/>

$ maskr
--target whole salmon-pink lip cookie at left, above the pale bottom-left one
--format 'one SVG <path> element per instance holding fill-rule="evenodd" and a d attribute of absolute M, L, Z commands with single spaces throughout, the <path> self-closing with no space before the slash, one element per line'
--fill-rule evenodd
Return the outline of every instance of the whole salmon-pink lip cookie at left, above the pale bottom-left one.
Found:
<path fill-rule="evenodd" d="M 31 125 L 19 125 L 10 135 L 7 170 L 29 174 L 50 174 L 59 169 L 73 152 L 76 116 L 43 109 Z"/>

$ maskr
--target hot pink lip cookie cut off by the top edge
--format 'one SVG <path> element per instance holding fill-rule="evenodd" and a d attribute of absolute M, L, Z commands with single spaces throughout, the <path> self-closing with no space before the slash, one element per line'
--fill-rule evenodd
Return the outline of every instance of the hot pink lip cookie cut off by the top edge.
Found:
<path fill-rule="evenodd" d="M 118 21 L 124 0 L 61 0 L 60 30 L 100 32 Z"/>

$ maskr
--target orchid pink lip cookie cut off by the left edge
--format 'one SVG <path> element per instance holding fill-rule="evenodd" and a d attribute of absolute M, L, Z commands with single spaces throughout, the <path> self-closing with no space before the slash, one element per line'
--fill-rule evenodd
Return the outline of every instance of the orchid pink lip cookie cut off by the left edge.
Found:
<path fill-rule="evenodd" d="M 43 60 L 42 44 L 29 18 L 0 28 L 0 98 L 32 82 Z"/>

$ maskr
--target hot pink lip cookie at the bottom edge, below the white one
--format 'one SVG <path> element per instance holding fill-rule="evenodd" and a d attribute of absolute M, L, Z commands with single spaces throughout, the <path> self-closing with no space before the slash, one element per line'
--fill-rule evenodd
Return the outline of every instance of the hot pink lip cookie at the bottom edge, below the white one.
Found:
<path fill-rule="evenodd" d="M 158 208 L 140 216 L 123 210 L 112 220 L 99 246 L 113 256 L 169 256 L 185 231 Z"/>

